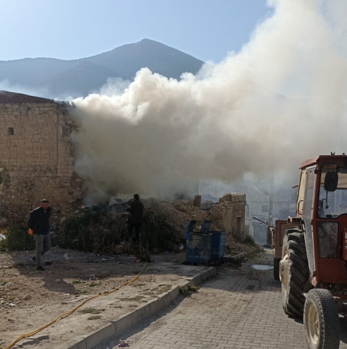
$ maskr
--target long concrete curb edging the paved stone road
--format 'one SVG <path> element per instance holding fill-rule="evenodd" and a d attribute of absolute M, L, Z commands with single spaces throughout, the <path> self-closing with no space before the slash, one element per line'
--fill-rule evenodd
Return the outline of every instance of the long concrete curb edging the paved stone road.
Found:
<path fill-rule="evenodd" d="M 211 267 L 201 274 L 196 274 L 191 278 L 187 278 L 188 282 L 181 287 L 188 289 L 189 286 L 200 285 L 203 281 L 206 281 L 215 275 L 216 269 Z M 123 315 L 117 320 L 111 321 L 106 326 L 84 337 L 82 340 L 78 341 L 68 349 L 92 349 L 113 335 L 124 332 L 127 328 L 135 325 L 145 317 L 157 313 L 159 310 L 173 302 L 179 296 L 179 294 L 180 286 L 173 286 L 170 291 L 162 293 L 157 299 L 146 303 L 133 312 Z"/>

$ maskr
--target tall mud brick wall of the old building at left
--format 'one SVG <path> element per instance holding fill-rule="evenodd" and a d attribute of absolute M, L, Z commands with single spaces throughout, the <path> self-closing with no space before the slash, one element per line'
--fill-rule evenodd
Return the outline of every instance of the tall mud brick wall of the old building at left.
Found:
<path fill-rule="evenodd" d="M 65 103 L 0 103 L 0 218 L 26 223 L 42 198 L 54 209 L 53 223 L 74 209 L 82 193 L 73 128 Z"/>

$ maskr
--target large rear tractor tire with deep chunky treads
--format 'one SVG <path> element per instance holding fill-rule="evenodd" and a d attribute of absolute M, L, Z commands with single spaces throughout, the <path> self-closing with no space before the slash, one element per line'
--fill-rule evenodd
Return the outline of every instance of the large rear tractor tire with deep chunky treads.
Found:
<path fill-rule="evenodd" d="M 287 229 L 283 239 L 280 262 L 282 300 L 284 312 L 292 317 L 302 317 L 305 304 L 303 293 L 310 276 L 305 238 L 299 228 Z"/>

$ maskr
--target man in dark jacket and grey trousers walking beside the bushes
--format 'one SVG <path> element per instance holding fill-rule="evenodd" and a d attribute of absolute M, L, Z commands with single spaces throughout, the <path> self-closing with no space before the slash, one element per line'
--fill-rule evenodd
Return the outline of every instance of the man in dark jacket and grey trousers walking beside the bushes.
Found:
<path fill-rule="evenodd" d="M 32 257 L 32 260 L 36 262 L 36 270 L 45 270 L 41 265 L 41 257 L 51 248 L 51 236 L 49 235 L 51 210 L 48 200 L 43 199 L 41 206 L 32 210 L 29 215 L 29 234 L 33 234 L 36 244 L 36 255 Z"/>

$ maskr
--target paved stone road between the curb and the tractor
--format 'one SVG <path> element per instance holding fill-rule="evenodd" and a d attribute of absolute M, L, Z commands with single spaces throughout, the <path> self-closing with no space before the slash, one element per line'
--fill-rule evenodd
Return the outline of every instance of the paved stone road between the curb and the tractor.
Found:
<path fill-rule="evenodd" d="M 256 349 L 307 348 L 302 322 L 282 310 L 281 286 L 267 252 L 239 269 L 219 268 L 219 276 L 191 297 L 180 299 L 158 316 L 123 333 L 131 349 Z M 113 338 L 97 349 L 116 349 Z M 347 323 L 342 321 L 340 349 L 347 349 Z"/>

